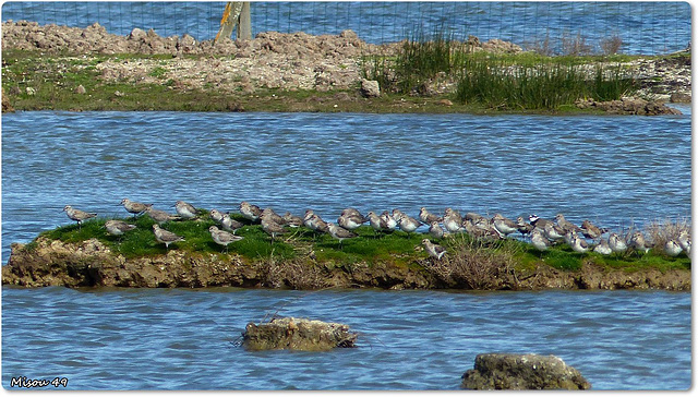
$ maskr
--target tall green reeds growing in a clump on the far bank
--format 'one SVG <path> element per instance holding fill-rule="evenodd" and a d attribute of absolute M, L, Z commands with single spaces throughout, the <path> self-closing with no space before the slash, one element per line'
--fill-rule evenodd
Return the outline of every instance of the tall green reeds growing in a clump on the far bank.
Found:
<path fill-rule="evenodd" d="M 512 110 L 554 110 L 589 98 L 614 100 L 636 89 L 635 80 L 619 64 L 587 57 L 589 46 L 579 37 L 570 43 L 563 57 L 497 55 L 473 51 L 469 41 L 444 34 L 416 34 L 395 58 L 364 61 L 363 74 L 384 92 L 408 95 L 428 94 L 435 80 L 450 80 L 457 84 L 457 101 Z"/>

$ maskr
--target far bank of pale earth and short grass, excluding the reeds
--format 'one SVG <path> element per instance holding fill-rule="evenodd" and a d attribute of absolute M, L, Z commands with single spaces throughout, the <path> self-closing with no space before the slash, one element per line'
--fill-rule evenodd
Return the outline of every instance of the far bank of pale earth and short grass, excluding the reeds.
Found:
<path fill-rule="evenodd" d="M 377 96 L 366 93 L 362 79 L 374 68 L 372 57 L 394 58 L 402 43 L 366 44 L 351 31 L 336 36 L 268 32 L 214 45 L 140 29 L 118 36 L 98 24 L 77 28 L 10 21 L 2 24 L 2 35 L 3 111 L 662 115 L 672 113 L 664 103 L 690 103 L 689 52 L 616 57 L 613 62 L 640 75 L 640 96 L 631 101 L 525 110 L 460 104 L 450 77 L 426 81 L 409 95 L 382 88 Z M 478 51 L 524 53 L 502 40 L 473 43 Z M 599 57 L 589 62 L 613 63 Z"/>

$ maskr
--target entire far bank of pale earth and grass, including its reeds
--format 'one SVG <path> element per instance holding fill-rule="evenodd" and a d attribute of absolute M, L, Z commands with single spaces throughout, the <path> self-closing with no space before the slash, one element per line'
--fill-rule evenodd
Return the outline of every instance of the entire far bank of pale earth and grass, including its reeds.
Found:
<path fill-rule="evenodd" d="M 381 113 L 676 115 L 690 103 L 690 50 L 603 53 L 412 32 L 374 45 L 338 35 L 262 32 L 250 40 L 125 36 L 2 24 L 3 111 L 154 110 Z M 559 38 L 564 40 L 565 38 Z M 549 43 L 550 41 L 550 43 Z M 606 43 L 607 44 L 607 43 Z"/>

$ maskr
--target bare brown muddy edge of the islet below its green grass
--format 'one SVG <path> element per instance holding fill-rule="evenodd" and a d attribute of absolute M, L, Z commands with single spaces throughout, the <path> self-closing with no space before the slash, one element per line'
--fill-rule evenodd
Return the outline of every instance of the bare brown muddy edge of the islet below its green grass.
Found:
<path fill-rule="evenodd" d="M 170 250 L 165 255 L 125 258 L 95 239 L 64 243 L 39 237 L 32 244 L 12 244 L 2 284 L 21 287 L 63 286 L 130 288 L 383 288 L 474 289 L 434 272 L 432 258 L 411 266 L 392 263 L 350 266 L 302 260 L 246 262 L 236 254 Z M 559 270 L 544 264 L 527 272 L 495 275 L 482 290 L 662 289 L 690 291 L 690 270 L 655 268 L 627 272 L 585 264 Z"/>

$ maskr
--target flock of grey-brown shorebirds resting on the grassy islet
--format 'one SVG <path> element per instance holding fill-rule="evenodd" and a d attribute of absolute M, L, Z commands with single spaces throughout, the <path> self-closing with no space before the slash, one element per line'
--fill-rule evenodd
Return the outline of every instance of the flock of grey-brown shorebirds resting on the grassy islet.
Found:
<path fill-rule="evenodd" d="M 177 215 L 155 209 L 153 208 L 153 204 L 137 203 L 129 198 L 123 198 L 119 205 L 123 205 L 125 210 L 133 214 L 134 217 L 146 214 L 153 218 L 153 220 L 156 221 L 156 224 L 153 225 L 155 239 L 159 243 L 165 244 L 168 250 L 171 243 L 184 241 L 184 239 L 181 236 L 163 229 L 161 225 L 170 220 L 194 219 L 200 216 L 193 205 L 183 201 L 174 203 Z M 77 221 L 79 227 L 83 220 L 97 216 L 96 213 L 87 213 L 73 208 L 70 205 L 67 205 L 63 210 L 68 214 L 69 218 Z M 425 207 L 421 207 L 417 218 L 397 208 L 393 209 L 392 213 L 384 210 L 381 215 L 369 212 L 366 216 L 354 208 L 346 208 L 337 218 L 337 222 L 334 224 L 323 220 L 321 216 L 312 209 L 305 210 L 305 215 L 301 218 L 291 215 L 289 212 L 281 216 L 269 207 L 262 209 L 248 202 L 241 202 L 239 212 L 252 222 L 260 222 L 262 229 L 270 236 L 272 243 L 274 242 L 274 238 L 288 231 L 286 227 L 298 228 L 305 226 L 317 233 L 330 234 L 333 238 L 339 240 L 341 248 L 344 240 L 359 236 L 353 231 L 354 229 L 368 222 L 373 228 L 374 233 L 392 232 L 400 229 L 407 232 L 408 236 L 414 232 L 420 226 L 429 226 L 429 234 L 434 240 L 441 240 L 449 234 L 461 232 L 468 233 L 476 239 L 492 240 L 500 240 L 507 238 L 509 234 L 519 233 L 521 237 L 529 237 L 531 244 L 539 251 L 545 251 L 549 246 L 559 242 L 566 242 L 578 253 L 586 253 L 591 250 L 602 255 L 625 253 L 628 249 L 637 252 L 647 252 L 655 246 L 655 244 L 649 242 L 640 231 L 634 231 L 623 237 L 615 232 L 609 232 L 606 228 L 600 228 L 589 220 L 585 220 L 581 226 L 574 225 L 565 219 L 563 214 L 557 214 L 554 220 L 530 215 L 529 221 L 527 222 L 522 217 L 518 217 L 515 221 L 501 214 L 495 214 L 492 218 L 476 213 L 467 213 L 465 216 L 461 216 L 458 210 L 453 208 L 446 208 L 443 215 L 436 215 L 430 213 Z M 208 215 L 224 229 L 221 230 L 216 226 L 210 226 L 208 231 L 217 244 L 225 246 L 226 252 L 228 251 L 228 244 L 243 239 L 241 236 L 236 236 L 234 232 L 244 226 L 244 224 L 232 219 L 229 213 L 210 209 Z M 110 234 L 121 236 L 129 230 L 135 229 L 136 226 L 122 220 L 107 220 L 105 228 Z M 606 233 L 609 233 L 607 238 L 604 238 L 603 236 Z M 587 239 L 590 239 L 592 242 L 588 242 Z M 428 238 L 422 240 L 422 245 L 424 246 L 424 251 L 435 258 L 441 260 L 446 254 L 446 250 L 443 246 L 432 242 Z M 681 230 L 677 232 L 677 236 L 667 238 L 664 246 L 660 248 L 671 256 L 676 256 L 682 252 L 690 255 L 689 231 L 686 229 Z"/>

